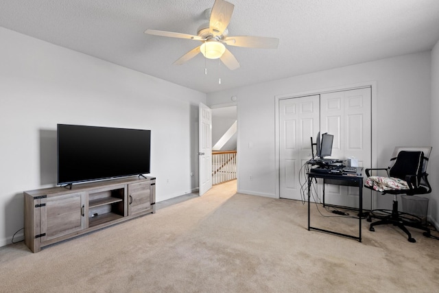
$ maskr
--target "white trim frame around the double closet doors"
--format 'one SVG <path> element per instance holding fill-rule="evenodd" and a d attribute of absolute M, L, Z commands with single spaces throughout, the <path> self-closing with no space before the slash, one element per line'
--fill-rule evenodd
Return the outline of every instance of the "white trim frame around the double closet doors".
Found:
<path fill-rule="evenodd" d="M 292 98 L 298 98 L 303 97 L 307 95 L 320 95 L 323 93 L 333 93 L 337 91 L 349 91 L 353 89 L 362 89 L 370 87 L 370 93 L 371 93 L 371 159 L 372 159 L 372 165 L 371 168 L 377 167 L 377 82 L 370 81 L 370 82 L 359 82 L 356 84 L 346 84 L 341 86 L 333 86 L 329 88 L 324 89 L 316 89 L 316 90 L 310 90 L 310 91 L 302 91 L 297 93 L 289 93 L 289 94 L 283 94 L 283 95 L 275 95 L 274 96 L 274 134 L 275 134 L 275 168 L 276 168 L 276 187 L 275 187 L 275 198 L 280 198 L 281 191 L 280 191 L 280 185 L 281 185 L 281 175 L 280 175 L 280 133 L 279 133 L 279 101 L 281 99 L 292 99 Z M 363 197 L 368 196 L 368 194 L 364 194 Z M 371 198 L 371 208 L 376 209 L 377 208 L 377 195 L 376 192 L 372 193 L 370 192 L 370 198 Z"/>

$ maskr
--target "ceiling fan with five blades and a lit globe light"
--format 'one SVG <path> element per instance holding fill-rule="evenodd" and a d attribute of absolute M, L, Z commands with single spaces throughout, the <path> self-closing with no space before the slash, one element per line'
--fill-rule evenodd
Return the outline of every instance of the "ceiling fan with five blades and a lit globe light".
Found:
<path fill-rule="evenodd" d="M 180 34 L 178 32 L 164 32 L 161 30 L 145 30 L 145 34 L 156 36 L 168 36 L 171 38 L 187 38 L 189 40 L 199 40 L 202 44 L 185 55 L 181 56 L 175 65 L 182 65 L 191 60 L 200 52 L 205 58 L 221 60 L 230 70 L 239 68 L 239 62 L 233 56 L 226 45 L 248 48 L 276 49 L 279 43 L 278 38 L 268 38 L 262 36 L 228 36 L 227 26 L 233 14 L 233 5 L 224 0 L 215 0 L 212 9 L 204 11 L 209 23 L 204 23 L 198 27 L 197 35 Z"/>

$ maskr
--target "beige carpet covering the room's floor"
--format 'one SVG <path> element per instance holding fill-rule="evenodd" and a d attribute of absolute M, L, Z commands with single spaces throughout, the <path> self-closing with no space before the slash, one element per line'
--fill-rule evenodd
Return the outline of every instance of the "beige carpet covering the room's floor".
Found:
<path fill-rule="evenodd" d="M 438 292 L 439 241 L 422 231 L 411 230 L 416 244 L 393 226 L 370 232 L 366 220 L 361 243 L 307 231 L 306 204 L 235 185 L 40 253 L 2 247 L 0 292 Z M 358 233 L 357 220 L 315 206 L 312 217 Z"/>

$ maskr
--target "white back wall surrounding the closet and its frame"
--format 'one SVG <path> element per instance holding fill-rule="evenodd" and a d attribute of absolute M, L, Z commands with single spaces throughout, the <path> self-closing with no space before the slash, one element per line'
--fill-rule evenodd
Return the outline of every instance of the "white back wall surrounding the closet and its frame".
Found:
<path fill-rule="evenodd" d="M 275 97 L 279 95 L 373 82 L 376 89 L 372 91 L 377 93 L 374 156 L 379 167 L 387 166 L 395 145 L 430 145 L 430 65 L 430 51 L 425 51 L 209 93 L 209 106 L 237 97 L 238 191 L 276 197 Z M 389 208 L 391 201 L 391 197 L 378 197 L 379 207 Z"/>

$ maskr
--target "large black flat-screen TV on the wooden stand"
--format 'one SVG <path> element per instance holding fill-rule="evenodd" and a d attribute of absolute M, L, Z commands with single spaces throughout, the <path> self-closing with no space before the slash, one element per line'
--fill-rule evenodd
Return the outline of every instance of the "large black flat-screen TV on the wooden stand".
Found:
<path fill-rule="evenodd" d="M 151 130 L 58 124 L 58 185 L 150 173 Z"/>

